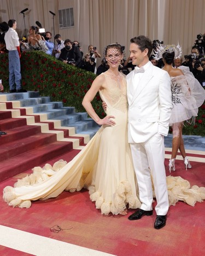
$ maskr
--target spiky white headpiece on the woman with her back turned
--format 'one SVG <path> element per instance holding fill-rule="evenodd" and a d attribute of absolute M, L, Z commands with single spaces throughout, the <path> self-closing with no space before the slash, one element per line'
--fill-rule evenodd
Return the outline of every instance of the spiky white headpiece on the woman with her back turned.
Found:
<path fill-rule="evenodd" d="M 158 44 L 156 50 L 154 50 L 154 59 L 155 60 L 162 59 L 162 54 L 165 53 L 166 51 L 168 51 L 168 53 L 173 53 L 174 51 L 174 59 L 178 59 L 182 55 L 182 50 L 181 50 L 181 46 L 179 45 L 179 42 L 177 46 L 175 46 L 174 44 L 167 44 L 163 47 L 161 46 L 161 44 Z"/>

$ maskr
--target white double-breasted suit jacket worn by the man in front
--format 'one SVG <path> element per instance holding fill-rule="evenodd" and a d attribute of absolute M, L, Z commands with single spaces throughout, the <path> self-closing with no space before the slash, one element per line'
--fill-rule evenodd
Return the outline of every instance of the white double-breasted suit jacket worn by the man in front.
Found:
<path fill-rule="evenodd" d="M 126 76 L 128 142 L 143 143 L 156 133 L 167 136 L 172 110 L 169 74 L 149 62 L 137 90 L 133 77 L 134 70 Z"/>

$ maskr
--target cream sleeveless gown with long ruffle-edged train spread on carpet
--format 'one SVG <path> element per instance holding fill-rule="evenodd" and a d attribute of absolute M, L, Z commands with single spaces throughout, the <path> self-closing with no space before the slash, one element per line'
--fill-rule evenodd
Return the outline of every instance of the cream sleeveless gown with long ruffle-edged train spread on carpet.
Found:
<path fill-rule="evenodd" d="M 60 195 L 63 190 L 73 192 L 84 187 L 89 189 L 90 199 L 96 202 L 102 214 L 118 214 L 126 206 L 140 207 L 127 142 L 126 80 L 122 74 L 115 81 L 109 72 L 101 75 L 105 76 L 108 89 L 99 94 L 107 103 L 107 114 L 114 115 L 116 125 L 102 126 L 68 164 L 60 160 L 54 166 L 35 167 L 33 173 L 15 183 L 14 188 L 5 187 L 3 199 L 9 206 L 28 208 L 31 200 L 46 200 Z M 180 177 L 168 176 L 167 187 L 170 205 L 182 200 L 194 206 L 196 201 L 205 199 L 205 188 L 190 188 L 189 182 Z"/>

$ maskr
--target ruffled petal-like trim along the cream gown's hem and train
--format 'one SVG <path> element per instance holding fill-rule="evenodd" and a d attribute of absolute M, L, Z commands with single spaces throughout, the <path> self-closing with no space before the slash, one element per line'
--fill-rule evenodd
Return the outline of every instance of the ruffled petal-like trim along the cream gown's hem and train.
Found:
<path fill-rule="evenodd" d="M 3 199 L 9 206 L 30 208 L 31 200 L 22 200 L 14 193 L 16 187 L 31 186 L 39 183 L 43 183 L 46 179 L 49 179 L 53 174 L 66 165 L 66 161 L 57 161 L 52 167 L 46 164 L 44 168 L 35 167 L 33 173 L 25 178 L 19 179 L 14 188 L 7 186 L 3 189 Z M 83 184 L 77 186 L 77 188 L 69 188 L 70 192 L 79 191 Z M 95 188 L 95 185 L 89 185 L 87 187 L 90 194 L 90 199 L 96 202 L 96 208 L 100 209 L 102 214 L 108 215 L 110 212 L 114 215 L 119 214 L 128 208 L 140 208 L 140 201 L 136 195 L 132 193 L 131 185 L 128 181 L 121 181 L 113 194 L 113 199 L 106 201 L 102 192 Z M 178 201 L 184 201 L 190 206 L 195 206 L 196 202 L 202 202 L 205 200 L 205 187 L 198 187 L 197 185 L 190 186 L 189 181 L 178 177 L 167 177 L 167 189 L 169 197 L 169 205 L 175 205 Z M 65 189 L 67 190 L 67 189 Z M 154 191 L 153 191 L 154 195 Z M 44 198 L 39 198 L 43 200 Z"/>

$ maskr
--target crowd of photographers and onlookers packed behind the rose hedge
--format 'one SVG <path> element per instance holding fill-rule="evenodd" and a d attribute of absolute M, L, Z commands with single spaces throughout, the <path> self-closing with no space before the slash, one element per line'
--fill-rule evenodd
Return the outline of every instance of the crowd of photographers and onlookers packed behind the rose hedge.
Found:
<path fill-rule="evenodd" d="M 0 50 L 2 53 L 8 52 L 4 40 L 4 34 L 8 30 L 9 26 L 7 22 L 2 22 L 0 24 Z M 24 38 L 24 40 L 20 40 L 20 52 L 31 50 L 44 51 L 45 53 L 54 56 L 58 60 L 79 68 L 83 68 L 86 71 L 93 72 L 97 75 L 101 74 L 102 72 L 106 72 L 109 68 L 104 57 L 101 60 L 101 65 L 97 65 L 97 59 L 101 58 L 102 56 L 99 54 L 97 48 L 93 45 L 88 46 L 87 52 L 84 55 L 83 50 L 81 49 L 81 46 L 77 40 L 63 40 L 60 34 L 55 34 L 55 42 L 52 42 L 52 33 L 49 31 L 39 33 L 39 28 L 37 26 L 31 26 L 28 32 L 28 37 Z M 68 45 L 71 47 L 68 47 Z M 155 60 L 154 51 L 152 55 L 150 55 L 149 60 L 157 67 L 163 68 L 164 66 L 162 59 Z M 179 65 L 189 67 L 190 72 L 194 74 L 194 77 L 202 86 L 205 86 L 205 56 L 202 56 L 202 52 L 197 48 L 197 46 L 192 47 L 189 55 L 184 55 L 184 61 L 183 57 L 180 57 L 180 60 L 175 59 L 172 65 L 176 68 L 179 67 Z M 132 64 L 130 56 L 127 59 L 123 58 L 119 66 L 119 71 L 127 75 L 133 69 L 134 65 Z"/>

